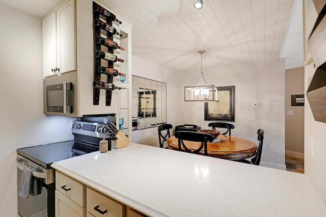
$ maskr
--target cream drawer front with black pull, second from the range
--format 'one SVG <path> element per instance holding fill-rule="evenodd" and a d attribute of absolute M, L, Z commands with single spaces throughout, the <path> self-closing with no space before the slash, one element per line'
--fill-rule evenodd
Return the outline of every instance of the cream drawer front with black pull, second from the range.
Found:
<path fill-rule="evenodd" d="M 108 198 L 93 189 L 87 187 L 86 190 L 87 212 L 99 217 L 125 216 L 125 205 Z"/>

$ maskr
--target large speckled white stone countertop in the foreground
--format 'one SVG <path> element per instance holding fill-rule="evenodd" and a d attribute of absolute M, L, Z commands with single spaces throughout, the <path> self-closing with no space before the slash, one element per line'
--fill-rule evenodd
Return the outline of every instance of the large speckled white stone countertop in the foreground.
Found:
<path fill-rule="evenodd" d="M 52 167 L 150 216 L 326 216 L 304 174 L 130 143 Z"/>

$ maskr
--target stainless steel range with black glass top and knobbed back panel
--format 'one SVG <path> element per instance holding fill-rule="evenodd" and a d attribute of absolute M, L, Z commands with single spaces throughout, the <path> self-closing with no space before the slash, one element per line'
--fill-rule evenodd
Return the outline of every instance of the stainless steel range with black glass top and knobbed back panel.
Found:
<path fill-rule="evenodd" d="M 51 168 L 51 164 L 55 161 L 98 151 L 99 141 L 106 138 L 106 125 L 106 123 L 74 121 L 72 126 L 74 140 L 72 141 L 17 149 L 18 191 L 24 167 L 34 170 L 33 176 L 42 180 L 41 194 L 28 198 L 18 196 L 20 216 L 55 216 L 55 172 Z M 110 144 L 109 141 L 109 150 L 111 150 Z"/>

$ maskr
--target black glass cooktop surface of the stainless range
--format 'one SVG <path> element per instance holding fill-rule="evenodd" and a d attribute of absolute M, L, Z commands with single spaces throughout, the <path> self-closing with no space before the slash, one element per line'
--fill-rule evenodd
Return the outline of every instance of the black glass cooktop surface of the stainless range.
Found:
<path fill-rule="evenodd" d="M 17 154 L 34 161 L 36 164 L 45 169 L 50 169 L 50 165 L 53 162 L 98 150 L 99 147 L 96 145 L 71 140 L 66 142 L 19 148 L 17 149 Z"/>

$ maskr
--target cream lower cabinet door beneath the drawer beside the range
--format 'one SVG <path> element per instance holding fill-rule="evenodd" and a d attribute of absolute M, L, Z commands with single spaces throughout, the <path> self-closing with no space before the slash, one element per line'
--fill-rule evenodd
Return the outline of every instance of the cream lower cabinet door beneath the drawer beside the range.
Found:
<path fill-rule="evenodd" d="M 82 208 L 56 190 L 56 217 L 85 217 L 86 208 Z"/>

